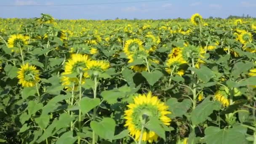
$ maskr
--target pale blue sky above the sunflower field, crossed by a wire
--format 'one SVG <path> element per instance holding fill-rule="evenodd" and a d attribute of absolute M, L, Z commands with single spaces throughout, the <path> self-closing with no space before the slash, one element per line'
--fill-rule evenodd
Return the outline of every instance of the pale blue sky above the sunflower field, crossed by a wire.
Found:
<path fill-rule="evenodd" d="M 256 17 L 256 0 L 165 0 L 150 3 L 125 3 L 111 5 L 51 6 L 79 3 L 115 3 L 141 0 L 0 0 L 0 5 L 49 5 L 44 7 L 0 7 L 2 18 L 33 18 L 40 13 L 51 14 L 56 19 L 175 19 L 189 18 L 200 13 L 226 18 L 229 15 Z"/>

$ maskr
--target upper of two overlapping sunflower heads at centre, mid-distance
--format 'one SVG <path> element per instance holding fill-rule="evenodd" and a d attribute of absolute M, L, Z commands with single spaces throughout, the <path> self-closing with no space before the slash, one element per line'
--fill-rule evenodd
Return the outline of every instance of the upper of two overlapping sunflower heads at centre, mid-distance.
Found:
<path fill-rule="evenodd" d="M 135 51 L 144 51 L 145 48 L 142 45 L 142 41 L 139 39 L 127 40 L 123 48 L 124 53 L 129 56 Z"/>

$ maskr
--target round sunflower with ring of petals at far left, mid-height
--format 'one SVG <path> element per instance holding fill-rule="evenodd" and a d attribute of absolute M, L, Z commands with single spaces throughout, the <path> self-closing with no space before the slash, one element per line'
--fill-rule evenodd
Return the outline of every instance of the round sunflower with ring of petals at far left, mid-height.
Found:
<path fill-rule="evenodd" d="M 35 66 L 24 64 L 21 66 L 18 72 L 17 78 L 19 79 L 19 84 L 23 87 L 33 87 L 39 82 L 39 70 Z"/>

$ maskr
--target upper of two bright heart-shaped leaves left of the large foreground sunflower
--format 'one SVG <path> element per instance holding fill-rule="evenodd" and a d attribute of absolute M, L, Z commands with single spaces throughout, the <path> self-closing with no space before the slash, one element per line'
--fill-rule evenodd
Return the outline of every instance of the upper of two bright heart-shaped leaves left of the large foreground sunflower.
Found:
<path fill-rule="evenodd" d="M 94 107 L 98 106 L 100 104 L 101 100 L 99 98 L 91 99 L 88 97 L 83 97 L 81 99 L 81 110 L 83 114 L 86 114 Z"/>

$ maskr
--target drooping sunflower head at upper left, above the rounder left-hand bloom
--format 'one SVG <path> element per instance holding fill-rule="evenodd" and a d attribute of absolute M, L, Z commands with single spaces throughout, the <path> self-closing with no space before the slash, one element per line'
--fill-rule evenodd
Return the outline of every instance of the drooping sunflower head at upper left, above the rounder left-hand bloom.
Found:
<path fill-rule="evenodd" d="M 13 47 L 19 48 L 19 46 L 22 47 L 23 45 L 27 45 L 28 40 L 29 40 L 28 36 L 24 36 L 21 34 L 11 35 L 7 41 L 8 43 L 7 46 L 8 48 L 13 48 Z"/>

